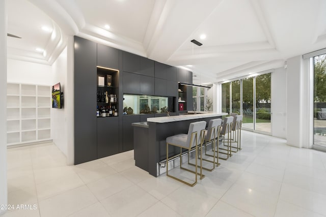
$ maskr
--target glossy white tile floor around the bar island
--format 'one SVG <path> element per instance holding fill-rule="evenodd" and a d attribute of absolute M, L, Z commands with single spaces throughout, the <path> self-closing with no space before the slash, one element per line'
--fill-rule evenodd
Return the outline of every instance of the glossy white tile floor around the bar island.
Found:
<path fill-rule="evenodd" d="M 4 216 L 326 216 L 326 153 L 242 131 L 243 149 L 191 188 L 134 166 L 133 151 L 66 166 L 52 143 L 8 149 Z"/>

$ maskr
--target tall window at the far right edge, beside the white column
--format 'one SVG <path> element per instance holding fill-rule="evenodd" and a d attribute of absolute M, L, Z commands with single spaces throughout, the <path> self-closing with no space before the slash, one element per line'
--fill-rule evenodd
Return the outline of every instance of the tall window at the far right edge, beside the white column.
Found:
<path fill-rule="evenodd" d="M 326 54 L 314 60 L 314 144 L 326 146 Z"/>

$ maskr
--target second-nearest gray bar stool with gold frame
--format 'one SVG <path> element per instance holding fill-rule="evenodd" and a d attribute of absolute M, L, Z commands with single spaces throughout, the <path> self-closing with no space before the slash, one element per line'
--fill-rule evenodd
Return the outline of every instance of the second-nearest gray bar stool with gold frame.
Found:
<path fill-rule="evenodd" d="M 219 145 L 216 146 L 216 140 L 219 141 L 220 138 L 220 133 L 221 133 L 221 123 L 222 123 L 222 119 L 221 118 L 217 118 L 217 119 L 212 119 L 209 120 L 208 122 L 208 128 L 207 130 L 205 130 L 205 134 L 204 134 L 204 141 L 205 141 L 205 155 L 206 156 L 210 156 L 213 157 L 213 161 L 210 161 L 208 159 L 203 159 L 203 161 L 208 161 L 213 163 L 213 169 L 215 169 L 215 152 L 217 153 L 216 156 L 216 165 L 220 165 L 219 164 Z M 206 147 L 207 147 L 207 143 L 211 143 L 212 144 L 212 151 L 213 151 L 213 155 L 208 154 L 206 151 Z M 217 150 L 215 151 L 215 148 L 217 147 Z M 208 171 L 212 171 L 213 169 L 207 169 L 204 168 Z"/>

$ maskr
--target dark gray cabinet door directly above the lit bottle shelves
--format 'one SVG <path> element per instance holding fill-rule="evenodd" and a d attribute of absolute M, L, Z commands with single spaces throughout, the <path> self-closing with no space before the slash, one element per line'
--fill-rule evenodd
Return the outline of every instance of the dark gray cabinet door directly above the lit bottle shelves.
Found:
<path fill-rule="evenodd" d="M 119 50 L 97 44 L 97 66 L 119 70 Z"/>

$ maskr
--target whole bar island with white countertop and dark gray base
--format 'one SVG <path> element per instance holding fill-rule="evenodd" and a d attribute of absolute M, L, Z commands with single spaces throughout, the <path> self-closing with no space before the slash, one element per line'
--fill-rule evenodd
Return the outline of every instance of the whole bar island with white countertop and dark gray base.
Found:
<path fill-rule="evenodd" d="M 149 174 L 159 175 L 159 162 L 166 160 L 166 138 L 176 134 L 187 134 L 189 124 L 221 118 L 228 113 L 199 113 L 167 117 L 150 117 L 147 122 L 132 123 L 135 165 Z M 179 148 L 169 148 L 169 157 L 180 152 Z"/>

